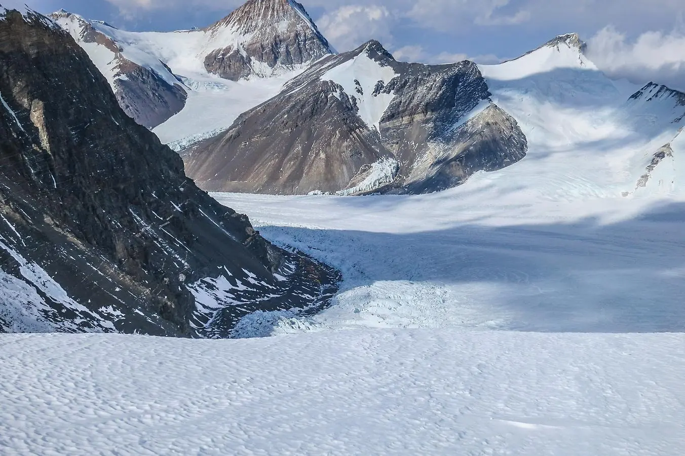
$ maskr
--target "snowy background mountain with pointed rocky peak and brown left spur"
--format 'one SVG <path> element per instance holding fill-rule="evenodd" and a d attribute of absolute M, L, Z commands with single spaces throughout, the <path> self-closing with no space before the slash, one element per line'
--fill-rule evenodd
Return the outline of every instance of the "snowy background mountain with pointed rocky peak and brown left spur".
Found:
<path fill-rule="evenodd" d="M 250 0 L 204 29 L 166 33 L 124 31 L 64 10 L 51 18 L 69 31 L 108 78 L 125 112 L 149 128 L 181 112 L 194 92 L 201 97 L 207 90 L 220 99 L 217 104 L 223 112 L 235 118 L 253 104 L 230 114 L 231 108 L 225 106 L 234 103 L 235 96 L 225 96 L 244 88 L 229 81 L 289 79 L 333 52 L 302 5 L 290 0 Z M 256 103 L 278 91 L 253 89 Z M 190 106 L 188 117 L 197 115 Z M 177 125 L 170 130 L 171 141 L 183 139 L 176 136 Z"/>

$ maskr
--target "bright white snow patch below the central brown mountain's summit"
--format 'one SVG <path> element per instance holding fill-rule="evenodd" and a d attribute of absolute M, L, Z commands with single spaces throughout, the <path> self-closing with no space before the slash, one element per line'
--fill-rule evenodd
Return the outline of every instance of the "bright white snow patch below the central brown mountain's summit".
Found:
<path fill-rule="evenodd" d="M 362 121 L 369 125 L 369 128 L 380 131 L 381 118 L 395 95 L 383 92 L 374 95 L 373 92 L 379 81 L 383 81 L 385 85 L 396 76 L 397 73 L 393 68 L 382 66 L 369 58 L 366 52 L 362 52 L 355 58 L 335 66 L 321 75 L 321 80 L 334 81 L 343 86 L 349 97 L 357 99 L 358 116 L 362 118 Z M 358 81 L 359 85 L 355 81 Z M 361 88 L 363 94 L 358 92 L 358 88 Z"/>

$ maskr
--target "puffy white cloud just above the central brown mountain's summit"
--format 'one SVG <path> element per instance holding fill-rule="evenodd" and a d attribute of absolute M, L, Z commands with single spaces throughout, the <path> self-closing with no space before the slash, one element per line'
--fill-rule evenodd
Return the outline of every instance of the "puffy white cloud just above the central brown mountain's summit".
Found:
<path fill-rule="evenodd" d="M 324 14 L 316 25 L 338 51 L 355 49 L 375 39 L 392 45 L 392 14 L 379 5 L 347 5 Z"/>

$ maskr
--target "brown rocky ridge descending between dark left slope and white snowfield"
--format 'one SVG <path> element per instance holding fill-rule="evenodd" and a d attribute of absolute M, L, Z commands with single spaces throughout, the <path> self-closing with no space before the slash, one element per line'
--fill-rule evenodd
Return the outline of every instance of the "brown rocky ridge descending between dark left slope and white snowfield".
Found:
<path fill-rule="evenodd" d="M 64 10 L 50 17 L 56 21 L 74 21 L 80 29 L 79 40 L 103 45 L 114 53 L 116 75 L 112 90 L 124 112 L 140 125 L 152 129 L 186 105 L 188 93 L 182 84 L 171 85 L 150 68 L 124 58 L 116 41 L 97 31 L 88 21 Z"/>

